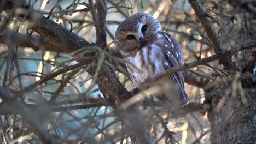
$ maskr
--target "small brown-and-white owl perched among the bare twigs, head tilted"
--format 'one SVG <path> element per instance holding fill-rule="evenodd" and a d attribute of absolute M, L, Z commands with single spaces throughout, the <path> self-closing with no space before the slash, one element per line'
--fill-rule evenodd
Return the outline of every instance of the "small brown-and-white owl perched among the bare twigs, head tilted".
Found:
<path fill-rule="evenodd" d="M 123 55 L 136 87 L 167 69 L 183 64 L 181 45 L 163 32 L 158 20 L 149 14 L 137 13 L 121 22 L 115 32 L 115 45 Z M 181 71 L 163 77 L 158 83 L 161 82 L 168 86 L 162 94 L 173 104 L 183 107 L 189 103 Z"/>

